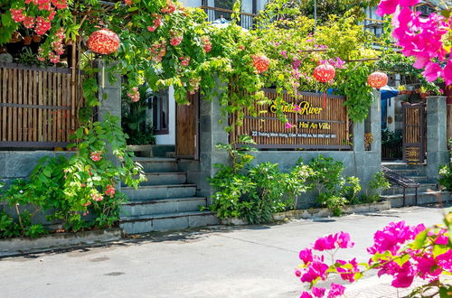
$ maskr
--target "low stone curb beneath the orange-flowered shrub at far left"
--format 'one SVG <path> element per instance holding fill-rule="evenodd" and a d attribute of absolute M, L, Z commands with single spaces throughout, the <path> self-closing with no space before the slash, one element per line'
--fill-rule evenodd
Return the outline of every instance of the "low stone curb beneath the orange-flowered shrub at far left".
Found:
<path fill-rule="evenodd" d="M 61 248 L 86 247 L 116 241 L 122 237 L 120 228 L 55 233 L 38 238 L 0 239 L 0 257 L 37 253 Z"/>

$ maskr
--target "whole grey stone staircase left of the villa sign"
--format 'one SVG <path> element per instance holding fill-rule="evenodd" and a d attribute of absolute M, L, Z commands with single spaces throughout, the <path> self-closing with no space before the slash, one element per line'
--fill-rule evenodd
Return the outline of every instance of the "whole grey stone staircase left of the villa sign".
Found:
<path fill-rule="evenodd" d="M 174 158 L 137 158 L 147 182 L 138 189 L 122 187 L 128 201 L 120 211 L 119 225 L 126 234 L 168 231 L 218 224 L 215 213 L 200 211 L 207 198 L 196 196 L 187 173 L 177 171 Z"/>

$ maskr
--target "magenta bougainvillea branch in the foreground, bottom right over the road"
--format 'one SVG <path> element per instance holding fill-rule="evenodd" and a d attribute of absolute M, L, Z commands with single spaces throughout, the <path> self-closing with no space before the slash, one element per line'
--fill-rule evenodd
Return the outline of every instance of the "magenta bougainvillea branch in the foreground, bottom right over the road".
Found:
<path fill-rule="evenodd" d="M 344 294 L 341 284 L 330 284 L 330 289 L 315 287 L 329 275 L 339 275 L 350 283 L 361 278 L 366 271 L 378 270 L 378 276 L 391 275 L 391 285 L 396 288 L 409 287 L 415 277 L 428 282 L 439 283 L 443 274 L 452 275 L 452 250 L 448 247 L 447 228 L 426 228 L 420 224 L 408 226 L 404 221 L 391 222 L 373 236 L 372 247 L 367 252 L 372 255 L 368 264 L 358 264 L 355 258 L 350 261 L 334 260 L 334 253 L 340 248 L 353 247 L 348 233 L 319 237 L 312 248 L 300 250 L 299 265 L 295 274 L 303 283 L 309 284 L 310 291 L 301 293 L 301 298 L 337 297 Z M 332 264 L 325 264 L 325 256 L 316 256 L 313 251 L 328 253 Z"/>

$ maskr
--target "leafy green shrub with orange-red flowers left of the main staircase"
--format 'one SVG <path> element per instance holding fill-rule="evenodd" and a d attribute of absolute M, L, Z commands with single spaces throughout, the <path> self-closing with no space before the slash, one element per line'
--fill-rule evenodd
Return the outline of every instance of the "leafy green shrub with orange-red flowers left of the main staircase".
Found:
<path fill-rule="evenodd" d="M 14 210 L 16 219 L 0 213 L 0 237 L 38 237 L 46 233 L 33 224 L 39 212 L 47 220 L 62 223 L 67 230 L 108 228 L 119 219 L 125 196 L 115 190 L 124 181 L 137 187 L 145 180 L 139 164 L 127 152 L 125 135 L 118 118 L 106 116 L 103 122 L 88 122 L 75 132 L 77 154 L 70 159 L 44 157 L 27 181 L 17 180 L 0 196 Z M 106 157 L 113 154 L 118 163 Z M 92 213 L 93 219 L 83 217 Z"/>

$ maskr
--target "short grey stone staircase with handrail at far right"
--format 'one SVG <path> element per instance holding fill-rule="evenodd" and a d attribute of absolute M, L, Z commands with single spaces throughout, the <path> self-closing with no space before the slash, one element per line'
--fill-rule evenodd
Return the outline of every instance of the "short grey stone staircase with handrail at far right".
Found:
<path fill-rule="evenodd" d="M 426 174 L 426 166 L 423 164 L 407 164 L 407 163 L 382 163 L 381 165 L 390 168 L 392 171 L 410 178 L 414 182 L 419 183 L 418 188 L 418 205 L 431 203 L 446 202 L 451 199 L 451 195 L 447 191 L 438 190 L 437 182 L 430 181 Z M 416 205 L 415 188 L 407 188 L 405 193 L 405 205 Z M 391 207 L 403 206 L 403 188 L 397 184 L 391 183 L 389 190 L 383 191 L 381 199 L 391 201 Z"/>

